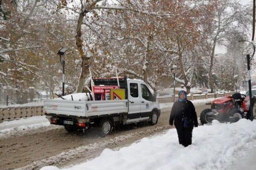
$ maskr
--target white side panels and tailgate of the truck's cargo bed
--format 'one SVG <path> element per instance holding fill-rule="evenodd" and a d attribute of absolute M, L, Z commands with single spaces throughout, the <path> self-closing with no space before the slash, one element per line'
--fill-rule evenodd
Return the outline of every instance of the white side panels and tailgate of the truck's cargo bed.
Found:
<path fill-rule="evenodd" d="M 128 100 L 72 101 L 49 99 L 44 101 L 44 112 L 82 117 L 127 113 Z"/>

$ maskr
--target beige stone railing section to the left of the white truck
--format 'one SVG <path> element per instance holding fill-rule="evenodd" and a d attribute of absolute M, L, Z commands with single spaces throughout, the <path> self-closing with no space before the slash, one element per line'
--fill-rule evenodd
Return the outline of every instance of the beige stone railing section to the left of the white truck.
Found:
<path fill-rule="evenodd" d="M 44 115 L 44 106 L 0 108 L 0 120 Z"/>

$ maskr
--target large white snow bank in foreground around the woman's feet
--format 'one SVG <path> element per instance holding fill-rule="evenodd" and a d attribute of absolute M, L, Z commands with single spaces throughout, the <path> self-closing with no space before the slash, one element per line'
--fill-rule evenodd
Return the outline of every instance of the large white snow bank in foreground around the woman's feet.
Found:
<path fill-rule="evenodd" d="M 178 144 L 175 129 L 117 151 L 104 149 L 88 162 L 65 170 L 223 170 L 236 156 L 245 156 L 256 144 L 256 121 L 241 119 L 233 124 L 199 126 L 193 131 L 192 145 Z M 254 146 L 253 146 L 254 144 Z M 59 170 L 46 166 L 41 170 Z"/>

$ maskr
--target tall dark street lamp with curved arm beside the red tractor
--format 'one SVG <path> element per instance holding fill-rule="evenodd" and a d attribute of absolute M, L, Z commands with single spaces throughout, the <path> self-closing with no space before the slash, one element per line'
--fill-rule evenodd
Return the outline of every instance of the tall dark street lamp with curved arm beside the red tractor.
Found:
<path fill-rule="evenodd" d="M 239 40 L 238 42 L 250 42 L 247 40 Z M 255 45 L 250 42 L 253 46 L 253 54 L 252 57 L 250 58 L 250 54 L 246 55 L 247 58 L 247 75 L 248 75 L 248 85 L 249 85 L 249 97 L 250 97 L 250 114 L 251 114 L 251 120 L 253 120 L 253 113 L 252 113 L 252 87 L 251 87 L 251 74 L 250 74 L 250 61 L 252 60 L 254 53 L 255 53 Z"/>

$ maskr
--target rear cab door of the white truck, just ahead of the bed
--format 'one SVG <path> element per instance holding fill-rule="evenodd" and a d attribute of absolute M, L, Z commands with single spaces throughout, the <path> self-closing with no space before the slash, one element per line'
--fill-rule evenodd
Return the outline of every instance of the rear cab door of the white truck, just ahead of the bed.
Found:
<path fill-rule="evenodd" d="M 140 114 L 139 84 L 130 82 L 128 85 L 129 114 Z M 134 115 L 135 116 L 135 115 Z"/>

